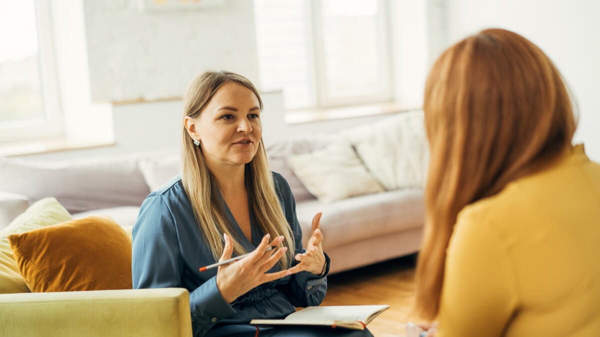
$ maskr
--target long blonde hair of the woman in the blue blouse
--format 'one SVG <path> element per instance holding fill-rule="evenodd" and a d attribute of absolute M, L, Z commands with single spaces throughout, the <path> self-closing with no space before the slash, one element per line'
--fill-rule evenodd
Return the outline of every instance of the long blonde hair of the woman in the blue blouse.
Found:
<path fill-rule="evenodd" d="M 227 82 L 236 82 L 254 92 L 259 100 L 260 110 L 263 103 L 260 95 L 250 80 L 227 71 L 207 71 L 196 77 L 190 84 L 184 102 L 184 118 L 195 118 L 202 113 L 215 92 Z M 209 245 L 215 260 L 223 254 L 223 233 L 230 237 L 233 243 L 233 252 L 236 255 L 245 254 L 247 251 L 235 239 L 235 231 L 225 216 L 225 208 L 218 191 L 218 182 L 208 169 L 202 149 L 194 145 L 194 140 L 182 129 L 181 142 L 181 180 L 185 192 L 190 199 L 194 216 L 200 231 Z M 275 185 L 269 164 L 266 158 L 265 146 L 260 139 L 259 148 L 250 161 L 245 164 L 245 180 L 247 182 L 248 200 L 254 213 L 257 225 L 263 233 L 271 237 L 284 236 L 283 245 L 288 247 L 285 255 L 280 260 L 280 266 L 285 269 L 290 266 L 295 254 L 295 242 L 291 228 L 281 210 L 281 205 L 275 192 Z"/>

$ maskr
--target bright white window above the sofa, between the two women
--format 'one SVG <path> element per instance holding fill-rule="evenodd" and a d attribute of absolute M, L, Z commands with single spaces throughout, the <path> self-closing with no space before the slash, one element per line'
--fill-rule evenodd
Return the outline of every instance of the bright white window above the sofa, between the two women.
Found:
<path fill-rule="evenodd" d="M 254 1 L 263 91 L 286 109 L 391 101 L 383 0 Z"/>

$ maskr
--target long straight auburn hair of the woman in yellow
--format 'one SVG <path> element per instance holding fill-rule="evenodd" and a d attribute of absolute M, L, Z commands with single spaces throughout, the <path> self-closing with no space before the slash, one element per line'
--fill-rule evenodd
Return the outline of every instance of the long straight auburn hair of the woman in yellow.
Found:
<path fill-rule="evenodd" d="M 521 35 L 487 29 L 440 56 L 425 85 L 430 164 L 416 311 L 439 311 L 446 248 L 458 212 L 571 146 L 576 121 L 548 56 Z"/>

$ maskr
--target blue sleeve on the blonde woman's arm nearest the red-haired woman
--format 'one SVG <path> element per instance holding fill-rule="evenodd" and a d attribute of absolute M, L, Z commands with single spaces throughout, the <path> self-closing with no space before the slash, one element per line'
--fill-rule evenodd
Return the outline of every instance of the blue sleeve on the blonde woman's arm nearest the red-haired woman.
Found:
<path fill-rule="evenodd" d="M 279 180 L 277 188 L 281 195 L 283 195 L 286 219 L 290 224 L 294 235 L 296 244 L 294 255 L 301 254 L 305 252 L 305 249 L 302 248 L 302 228 L 300 227 L 298 217 L 296 216 L 296 201 L 294 200 L 290 186 L 283 176 L 276 173 L 275 179 L 276 181 Z M 290 282 L 280 286 L 281 290 L 290 299 L 293 306 L 318 306 L 323 302 L 327 291 L 327 274 L 329 273 L 330 262 L 329 256 L 325 254 L 326 270 L 325 275 L 323 276 L 314 275 L 307 271 L 298 272 L 291 275 Z M 298 263 L 298 261 L 293 260 L 292 266 L 295 266 Z"/>

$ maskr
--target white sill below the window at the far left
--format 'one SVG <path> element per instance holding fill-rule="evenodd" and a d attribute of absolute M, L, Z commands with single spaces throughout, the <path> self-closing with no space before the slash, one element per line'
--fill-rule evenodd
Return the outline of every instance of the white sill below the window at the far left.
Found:
<path fill-rule="evenodd" d="M 114 146 L 115 142 L 91 140 L 74 141 L 65 138 L 40 139 L 27 142 L 1 143 L 0 157 L 18 157 L 24 155 L 47 154 L 49 152 L 70 151 L 79 149 Z"/>

